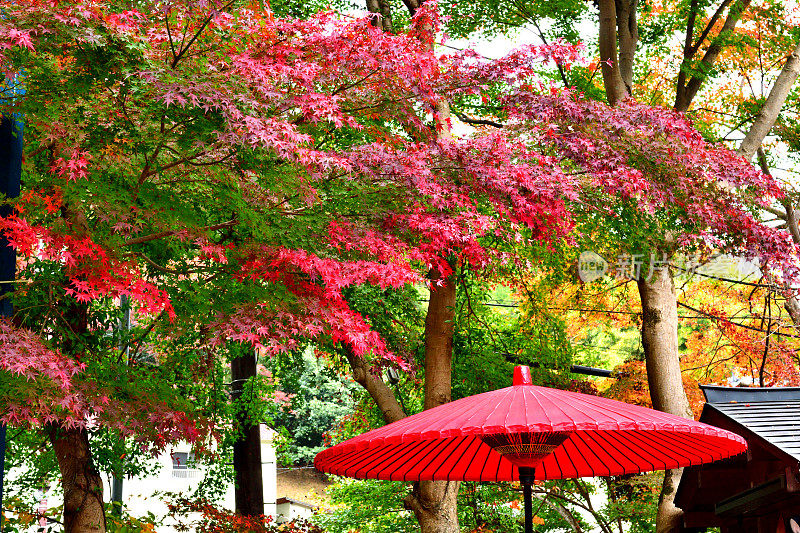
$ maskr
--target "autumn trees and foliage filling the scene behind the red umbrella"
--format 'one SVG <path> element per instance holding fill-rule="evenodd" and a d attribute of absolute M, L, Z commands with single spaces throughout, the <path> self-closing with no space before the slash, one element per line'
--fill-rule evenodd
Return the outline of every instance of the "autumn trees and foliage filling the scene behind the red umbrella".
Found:
<path fill-rule="evenodd" d="M 796 7 L 4 4 L 2 113 L 24 158 L 2 222 L 18 272 L 0 393 L 7 468 L 26 472 L 7 527 L 60 484 L 55 527 L 146 529 L 107 512 L 100 475 L 183 439 L 200 461 L 232 456 L 197 498 L 225 476 L 244 492 L 236 515 L 176 512 L 269 529 L 245 497 L 257 422 L 285 428 L 302 466 L 506 386 L 518 363 L 683 416 L 700 382 L 796 385 Z M 448 40 L 498 35 L 527 44 L 493 60 Z M 582 251 L 618 275 L 584 283 Z M 756 276 L 694 268 L 719 254 Z M 679 475 L 542 484 L 537 527 L 668 531 Z M 333 494 L 298 527 L 519 517 L 497 484 Z"/>

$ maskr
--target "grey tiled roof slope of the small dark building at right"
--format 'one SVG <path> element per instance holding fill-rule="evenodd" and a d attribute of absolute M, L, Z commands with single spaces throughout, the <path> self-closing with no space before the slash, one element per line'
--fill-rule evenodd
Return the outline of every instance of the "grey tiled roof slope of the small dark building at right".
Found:
<path fill-rule="evenodd" d="M 708 407 L 800 461 L 800 388 L 703 387 Z"/>

